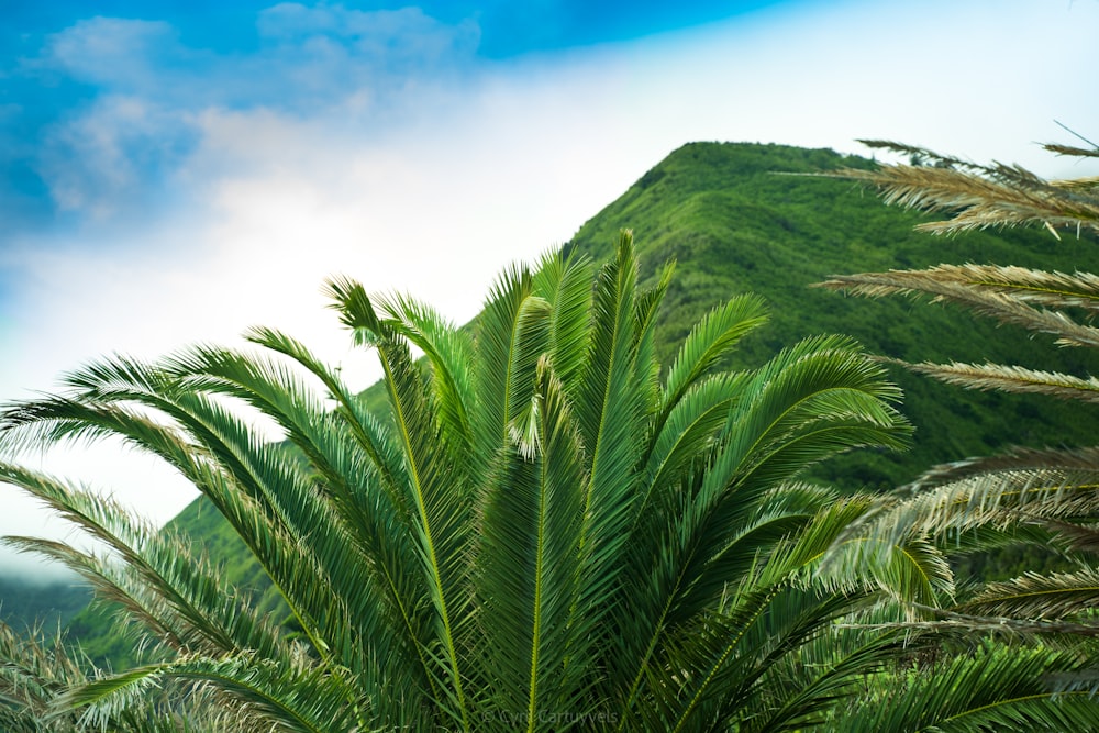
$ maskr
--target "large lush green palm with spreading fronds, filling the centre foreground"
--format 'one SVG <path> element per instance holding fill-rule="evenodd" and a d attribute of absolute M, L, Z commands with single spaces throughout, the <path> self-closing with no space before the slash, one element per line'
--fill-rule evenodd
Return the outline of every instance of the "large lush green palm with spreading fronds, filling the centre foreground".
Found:
<path fill-rule="evenodd" d="M 660 379 L 653 325 L 670 275 L 639 289 L 629 237 L 593 287 L 587 260 L 551 255 L 501 277 L 475 335 L 409 298 L 331 281 L 355 341 L 380 357 L 385 421 L 268 329 L 249 335 L 260 354 L 119 356 L 68 375 L 65 395 L 11 406 L 8 447 L 111 435 L 169 462 L 233 525 L 290 617 L 257 613 L 186 536 L 0 465 L 109 552 L 9 542 L 84 575 L 162 651 L 69 685 L 51 709 L 122 725 L 164 688 L 264 730 L 822 721 L 896 647 L 889 632 L 834 621 L 884 587 L 934 598 L 907 562 L 811 573 L 868 499 L 799 476 L 841 451 L 900 445 L 898 391 L 837 336 L 722 370 L 764 321 L 751 297 L 700 321 Z M 292 448 L 262 440 L 237 401 Z"/>

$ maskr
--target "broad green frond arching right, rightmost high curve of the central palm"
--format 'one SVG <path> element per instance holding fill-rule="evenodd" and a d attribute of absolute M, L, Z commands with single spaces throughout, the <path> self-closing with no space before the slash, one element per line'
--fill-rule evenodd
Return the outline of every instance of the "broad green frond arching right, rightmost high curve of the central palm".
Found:
<path fill-rule="evenodd" d="M 739 387 L 745 396 L 730 410 L 720 449 L 698 474 L 698 485 L 686 495 L 679 511 L 666 514 L 666 527 L 645 542 L 646 546 L 660 547 L 653 551 L 656 573 L 645 592 L 660 602 L 648 609 L 629 607 L 644 611 L 640 614 L 644 625 L 639 624 L 642 635 L 628 644 L 637 647 L 633 659 L 642 659 L 642 671 L 653 666 L 651 656 L 670 643 L 673 623 L 693 623 L 700 610 L 717 602 L 728 584 L 736 582 L 732 570 L 745 570 L 743 562 L 748 553 L 768 553 L 767 543 L 778 540 L 767 531 L 767 524 L 758 531 L 751 524 L 776 485 L 792 479 L 815 460 L 864 442 L 899 445 L 907 432 L 907 423 L 888 403 L 896 399 L 896 389 L 885 380 L 880 366 L 848 340 L 807 340 Z M 804 510 L 791 508 L 789 520 L 773 526 L 781 531 L 803 526 L 810 519 Z M 837 524 L 835 532 L 843 526 Z M 739 545 L 735 538 L 741 531 L 753 541 Z M 820 553 L 834 536 L 822 541 Z M 778 574 L 778 582 L 789 579 L 789 573 Z M 715 665 L 712 671 L 724 664 L 722 653 L 714 654 L 718 656 L 708 663 Z M 639 699 L 643 679 L 637 674 L 628 682 L 628 706 Z M 700 696 L 704 697 L 701 690 Z M 675 721 L 664 720 L 664 724 Z"/>

